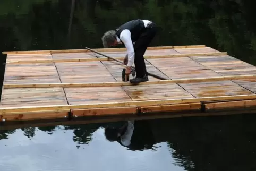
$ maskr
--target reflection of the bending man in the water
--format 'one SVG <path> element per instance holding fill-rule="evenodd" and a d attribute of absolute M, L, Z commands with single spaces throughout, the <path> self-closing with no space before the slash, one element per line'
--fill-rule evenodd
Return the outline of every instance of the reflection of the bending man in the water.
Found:
<path fill-rule="evenodd" d="M 156 143 L 147 121 L 127 121 L 121 127 L 107 127 L 105 136 L 130 150 L 151 149 Z"/>

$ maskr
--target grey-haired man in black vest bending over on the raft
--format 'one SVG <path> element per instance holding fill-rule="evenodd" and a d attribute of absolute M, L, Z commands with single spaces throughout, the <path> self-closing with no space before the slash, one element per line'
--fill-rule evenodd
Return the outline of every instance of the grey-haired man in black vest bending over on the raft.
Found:
<path fill-rule="evenodd" d="M 135 64 L 136 77 L 131 83 L 148 81 L 148 73 L 144 61 L 144 53 L 151 40 L 156 35 L 156 24 L 149 20 L 132 20 L 124 23 L 116 30 L 109 30 L 101 38 L 105 48 L 124 44 L 127 55 L 124 58 L 126 74 L 131 73 L 131 67 Z"/>

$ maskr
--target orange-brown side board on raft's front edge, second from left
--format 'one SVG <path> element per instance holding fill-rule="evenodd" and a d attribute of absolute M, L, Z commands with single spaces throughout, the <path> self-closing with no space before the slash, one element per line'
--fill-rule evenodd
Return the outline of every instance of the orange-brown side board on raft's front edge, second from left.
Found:
<path fill-rule="evenodd" d="M 93 108 L 93 109 L 74 109 L 71 110 L 73 116 L 102 116 L 102 115 L 121 115 L 136 113 L 136 106 Z"/>

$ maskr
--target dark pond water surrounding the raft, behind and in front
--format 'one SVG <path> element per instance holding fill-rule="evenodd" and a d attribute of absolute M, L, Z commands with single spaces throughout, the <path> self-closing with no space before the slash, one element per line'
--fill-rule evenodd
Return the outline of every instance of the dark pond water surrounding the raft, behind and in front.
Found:
<path fill-rule="evenodd" d="M 255 65 L 255 5 L 235 0 L 2 0 L 0 49 L 101 48 L 106 30 L 142 18 L 159 26 L 151 46 L 203 44 Z M 2 55 L 0 80 L 4 62 Z M 0 170 L 255 170 L 254 114 L 136 121 L 136 151 L 106 140 L 104 127 L 122 124 L 1 131 Z"/>

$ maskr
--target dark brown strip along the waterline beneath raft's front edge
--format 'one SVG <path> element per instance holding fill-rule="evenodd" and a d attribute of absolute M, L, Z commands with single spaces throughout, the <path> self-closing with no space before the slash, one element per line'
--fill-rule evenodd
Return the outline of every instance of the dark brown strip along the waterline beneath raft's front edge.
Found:
<path fill-rule="evenodd" d="M 126 115 L 105 115 L 101 117 L 88 116 L 84 119 L 72 119 L 67 121 L 66 119 L 54 120 L 39 120 L 39 121 L 22 121 L 22 122 L 6 122 L 0 126 L 0 131 L 21 129 L 23 127 L 46 127 L 46 126 L 57 126 L 57 125 L 78 125 L 78 124 L 95 124 L 95 123 L 108 123 L 108 122 L 121 122 L 131 120 L 149 120 L 149 119 L 164 119 L 164 118 L 177 118 L 177 117 L 195 117 L 195 116 L 220 116 L 220 115 L 234 115 L 244 113 L 255 114 L 256 110 L 251 108 L 244 108 L 243 110 L 225 110 L 225 111 L 210 111 L 206 113 L 194 112 L 186 110 L 186 112 L 165 112 L 165 113 L 147 113 L 146 115 L 126 114 Z"/>

